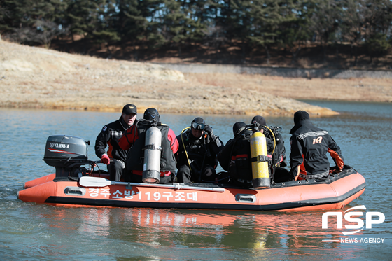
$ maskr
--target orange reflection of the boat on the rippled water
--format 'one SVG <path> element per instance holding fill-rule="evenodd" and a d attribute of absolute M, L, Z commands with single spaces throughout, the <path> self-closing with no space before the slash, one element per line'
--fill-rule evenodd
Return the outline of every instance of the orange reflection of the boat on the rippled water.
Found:
<path fill-rule="evenodd" d="M 63 209 L 63 208 L 62 208 Z M 344 258 L 355 258 L 356 246 L 339 240 L 336 221 L 329 220 L 328 230 L 321 230 L 324 211 L 310 212 L 242 212 L 182 209 L 66 208 L 46 216 L 64 235 L 88 235 L 89 240 L 116 240 L 136 245 L 140 253 L 153 258 L 154 251 L 176 245 L 195 248 L 247 248 L 249 258 L 272 255 L 300 255 L 317 258 L 335 249 Z M 73 212 L 69 213 L 69 211 Z M 343 211 L 343 210 L 339 210 Z M 66 217 L 73 216 L 72 222 Z M 71 227 L 75 225 L 75 227 Z M 241 237 L 239 237 L 241 235 Z M 290 249 L 288 252 L 287 249 Z M 309 251 L 312 249 L 312 251 Z M 185 251 L 185 250 L 184 250 Z M 190 252 L 192 253 L 192 251 Z M 183 255 L 186 255 L 184 252 Z M 162 257 L 162 255 L 160 255 Z M 190 257 L 191 258 L 191 257 Z M 193 257 L 195 258 L 195 257 Z M 282 257 L 283 258 L 283 257 Z M 284 259 L 284 258 L 283 258 Z"/>

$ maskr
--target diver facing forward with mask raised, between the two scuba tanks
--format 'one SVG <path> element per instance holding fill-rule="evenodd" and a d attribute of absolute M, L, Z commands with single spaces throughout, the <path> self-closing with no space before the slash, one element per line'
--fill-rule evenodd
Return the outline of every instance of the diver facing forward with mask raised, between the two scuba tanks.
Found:
<path fill-rule="evenodd" d="M 185 129 L 184 129 L 185 130 Z M 186 132 L 177 136 L 179 151 L 177 181 L 180 183 L 215 181 L 218 159 L 223 142 L 203 118 L 195 118 Z"/>

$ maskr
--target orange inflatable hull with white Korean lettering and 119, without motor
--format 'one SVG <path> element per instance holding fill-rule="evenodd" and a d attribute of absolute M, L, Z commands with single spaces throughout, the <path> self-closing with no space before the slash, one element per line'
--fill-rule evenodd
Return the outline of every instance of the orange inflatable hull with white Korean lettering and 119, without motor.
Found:
<path fill-rule="evenodd" d="M 209 185 L 209 187 L 214 185 Z M 199 188 L 203 188 L 201 185 Z M 220 188 L 216 186 L 215 188 Z M 223 186 L 222 192 L 197 187 L 160 188 L 143 185 L 83 187 L 78 181 L 54 178 L 18 192 L 24 202 L 55 206 L 113 206 L 241 211 L 311 211 L 342 209 L 365 190 L 365 178 L 353 169 L 328 181 L 293 181 L 251 190 Z"/>

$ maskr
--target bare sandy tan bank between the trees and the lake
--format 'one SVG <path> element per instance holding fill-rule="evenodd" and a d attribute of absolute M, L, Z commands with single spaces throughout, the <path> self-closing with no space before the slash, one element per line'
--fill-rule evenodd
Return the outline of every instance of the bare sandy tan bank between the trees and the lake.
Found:
<path fill-rule="evenodd" d="M 392 101 L 392 80 L 181 73 L 0 41 L 0 94 L 3 108 L 120 111 L 132 103 L 141 112 L 333 115 L 295 99 Z"/>

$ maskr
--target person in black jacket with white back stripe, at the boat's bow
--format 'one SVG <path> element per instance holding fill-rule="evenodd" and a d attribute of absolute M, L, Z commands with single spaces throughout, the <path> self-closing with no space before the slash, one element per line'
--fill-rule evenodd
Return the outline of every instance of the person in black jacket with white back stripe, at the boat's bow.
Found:
<path fill-rule="evenodd" d="M 327 153 L 330 153 L 337 169 L 343 169 L 344 158 L 339 146 L 328 132 L 311 123 L 309 113 L 294 113 L 294 124 L 290 130 L 290 175 L 295 181 L 328 176 L 330 163 Z"/>

